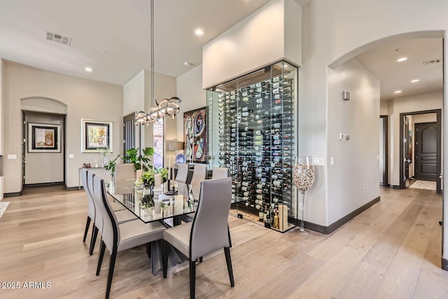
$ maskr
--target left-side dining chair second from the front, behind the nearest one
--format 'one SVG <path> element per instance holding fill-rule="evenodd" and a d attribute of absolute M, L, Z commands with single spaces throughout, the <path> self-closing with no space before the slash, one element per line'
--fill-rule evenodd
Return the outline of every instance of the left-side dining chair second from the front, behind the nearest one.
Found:
<path fill-rule="evenodd" d="M 97 201 L 94 198 L 94 178 L 99 176 L 95 176 L 93 172 L 87 173 L 87 188 L 90 192 L 90 196 L 92 198 L 92 202 L 94 204 L 94 225 L 92 226 L 92 239 L 90 239 L 90 248 L 89 248 L 89 254 L 92 256 L 93 250 L 95 247 L 95 243 L 97 242 L 98 232 L 102 232 L 103 229 L 103 218 L 101 211 L 97 209 Z M 106 197 L 108 198 L 108 197 Z M 118 203 L 116 203 L 118 204 Z M 121 206 L 123 207 L 123 206 Z M 113 213 L 116 215 L 119 223 L 124 223 L 127 221 L 131 221 L 134 219 L 137 219 L 137 216 L 132 214 L 130 211 L 128 211 L 125 207 L 123 209 L 119 209 L 116 211 L 113 211 Z"/>

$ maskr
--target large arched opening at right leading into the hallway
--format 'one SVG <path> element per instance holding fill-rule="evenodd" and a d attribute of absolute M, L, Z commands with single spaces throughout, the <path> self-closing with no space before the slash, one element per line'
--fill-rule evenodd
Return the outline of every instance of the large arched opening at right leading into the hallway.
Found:
<path fill-rule="evenodd" d="M 409 174 L 412 172 L 407 172 L 405 169 L 405 163 L 409 166 L 410 161 L 405 161 L 405 151 L 407 150 L 409 157 L 417 160 L 416 153 L 413 152 L 416 149 L 414 146 L 418 146 L 414 139 L 416 138 L 414 127 L 417 127 L 416 124 L 429 121 L 414 118 L 412 125 L 405 129 L 403 123 L 406 121 L 402 119 L 403 116 L 423 113 L 429 116 L 431 113 L 427 112 L 433 111 L 437 114 L 434 122 L 442 128 L 442 139 L 446 140 L 446 125 L 441 118 L 445 103 L 443 38 L 444 32 L 441 31 L 388 36 L 360 46 L 328 65 L 328 156 L 330 161 L 334 158 L 337 162 L 343 162 L 345 168 L 342 172 L 340 169 L 335 171 L 331 166 L 328 168 L 328 194 L 334 197 L 328 200 L 330 223 L 334 221 L 331 215 L 334 211 L 344 215 L 344 209 L 353 210 L 353 207 L 368 204 L 377 195 L 382 195 L 383 188 L 386 188 L 380 188 L 378 181 L 380 174 L 378 160 L 381 151 L 378 134 L 380 116 L 387 116 L 388 119 L 388 142 L 382 144 L 387 145 L 385 155 L 390 163 L 387 169 L 388 175 L 380 174 L 382 177 L 388 177 L 388 181 L 383 182 L 385 186 L 407 188 L 412 185 L 413 174 Z M 435 45 L 437 52 L 431 52 L 431 45 Z M 428 53 L 424 53 L 425 46 L 429 47 Z M 398 61 L 398 58 L 402 57 L 407 57 L 407 60 Z M 409 67 L 411 64 L 419 64 L 420 71 L 417 73 L 419 76 L 416 76 Z M 402 72 L 394 73 L 393 68 L 402 69 Z M 381 71 L 383 74 L 380 74 Z M 437 74 L 435 78 L 430 74 L 432 72 Z M 393 84 L 395 88 L 392 89 Z M 350 101 L 342 99 L 343 91 L 351 93 Z M 371 125 L 374 125 L 374 130 L 370 128 Z M 335 137 L 340 133 L 343 137 L 349 135 L 351 138 L 339 141 Z M 413 141 L 409 144 L 411 136 Z M 440 140 L 438 142 L 441 144 Z M 437 186 L 442 186 L 442 148 L 439 153 L 441 157 L 437 158 L 438 167 L 434 167 L 437 169 L 434 175 L 438 180 Z M 404 177 L 406 173 L 407 177 Z M 349 195 L 344 193 L 344 188 L 348 188 L 350 184 L 360 186 L 358 193 Z M 416 195 L 416 191 L 412 192 L 414 192 L 412 196 L 420 196 L 426 200 L 423 193 Z M 428 191 L 424 192 L 427 196 Z M 333 196 L 334 194 L 336 196 Z M 435 195 L 435 190 L 430 194 L 433 198 L 431 203 L 437 207 L 437 211 L 433 211 L 431 225 L 438 226 L 437 222 L 444 213 L 445 200 L 442 195 Z M 403 197 L 407 195 L 403 193 Z M 337 220 L 337 216 L 334 218 Z M 443 237 L 442 230 L 442 244 Z M 447 270 L 443 251 L 442 268 Z"/>

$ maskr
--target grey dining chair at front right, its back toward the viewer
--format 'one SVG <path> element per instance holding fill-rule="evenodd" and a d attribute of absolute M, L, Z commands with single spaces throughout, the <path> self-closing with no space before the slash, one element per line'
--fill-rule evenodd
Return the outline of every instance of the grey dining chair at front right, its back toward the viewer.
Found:
<path fill-rule="evenodd" d="M 190 260 L 190 298 L 195 298 L 196 260 L 201 256 L 224 249 L 230 286 L 235 286 L 230 242 L 228 214 L 232 195 L 232 179 L 210 179 L 201 182 L 200 200 L 193 222 L 168 228 L 163 232 L 163 277 L 167 277 L 169 244 L 188 256 Z"/>

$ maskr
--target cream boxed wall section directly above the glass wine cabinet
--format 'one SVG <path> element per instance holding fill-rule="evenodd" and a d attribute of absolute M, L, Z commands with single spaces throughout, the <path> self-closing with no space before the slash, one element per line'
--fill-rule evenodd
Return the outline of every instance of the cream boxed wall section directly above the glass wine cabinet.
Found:
<path fill-rule="evenodd" d="M 202 49 L 202 87 L 216 86 L 283 59 L 299 66 L 301 11 L 294 0 L 269 1 L 207 43 Z"/>

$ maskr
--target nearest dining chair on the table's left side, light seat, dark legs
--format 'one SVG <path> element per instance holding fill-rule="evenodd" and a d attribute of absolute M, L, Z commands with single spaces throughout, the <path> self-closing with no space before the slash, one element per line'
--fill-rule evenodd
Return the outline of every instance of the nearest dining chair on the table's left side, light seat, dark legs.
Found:
<path fill-rule="evenodd" d="M 107 199 L 106 184 L 104 183 L 104 179 L 101 179 L 98 176 L 94 177 L 94 200 L 97 202 L 97 208 L 101 214 L 104 215 L 102 243 L 99 252 L 96 275 L 99 275 L 104 258 L 104 252 L 107 248 L 111 254 L 109 274 L 106 285 L 106 298 L 109 298 L 117 253 L 162 239 L 165 226 L 160 222 L 143 223 L 139 220 L 118 223 L 116 214 L 113 213 L 109 200 Z"/>

